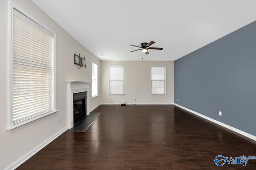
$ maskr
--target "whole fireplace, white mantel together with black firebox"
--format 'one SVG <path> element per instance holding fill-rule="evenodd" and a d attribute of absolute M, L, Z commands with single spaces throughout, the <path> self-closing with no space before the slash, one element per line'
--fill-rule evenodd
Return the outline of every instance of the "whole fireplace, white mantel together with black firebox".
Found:
<path fill-rule="evenodd" d="M 67 94 L 68 94 L 68 128 L 74 126 L 74 121 L 78 120 L 84 115 L 89 115 L 89 96 L 91 82 L 81 82 L 75 80 L 67 80 Z M 78 95 L 78 96 L 76 96 Z M 75 104 L 75 105 L 74 105 Z M 75 112 L 75 113 L 74 113 Z M 80 112 L 81 114 L 78 114 Z"/>

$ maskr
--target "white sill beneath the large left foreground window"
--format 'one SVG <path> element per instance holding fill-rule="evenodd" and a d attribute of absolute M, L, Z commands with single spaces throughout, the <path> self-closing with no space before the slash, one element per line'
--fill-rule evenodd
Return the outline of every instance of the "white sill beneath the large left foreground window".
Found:
<path fill-rule="evenodd" d="M 29 120 L 26 120 L 24 122 L 21 122 L 21 123 L 18 123 L 16 125 L 12 125 L 10 127 L 8 127 L 6 130 L 8 130 L 9 132 L 13 132 L 13 131 L 16 131 L 18 129 L 21 129 L 22 127 L 25 127 L 27 125 L 31 125 L 32 123 L 35 123 L 37 121 L 40 121 L 50 115 L 52 115 L 53 113 L 56 113 L 58 110 L 54 110 L 54 111 L 51 111 L 49 113 L 46 113 L 46 114 L 43 114 L 43 115 L 40 115 L 40 116 L 37 116 L 37 117 L 34 117 L 32 119 L 29 119 Z"/>

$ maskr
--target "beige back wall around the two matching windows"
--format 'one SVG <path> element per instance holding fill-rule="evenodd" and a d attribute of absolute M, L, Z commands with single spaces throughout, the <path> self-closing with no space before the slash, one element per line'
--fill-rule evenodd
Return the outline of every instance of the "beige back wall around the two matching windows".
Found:
<path fill-rule="evenodd" d="M 109 95 L 108 65 L 125 65 L 125 95 Z M 150 94 L 150 66 L 166 65 L 166 95 Z M 100 102 L 134 104 L 173 104 L 174 103 L 174 62 L 173 61 L 100 61 Z M 109 100 L 110 101 L 109 101 Z"/>

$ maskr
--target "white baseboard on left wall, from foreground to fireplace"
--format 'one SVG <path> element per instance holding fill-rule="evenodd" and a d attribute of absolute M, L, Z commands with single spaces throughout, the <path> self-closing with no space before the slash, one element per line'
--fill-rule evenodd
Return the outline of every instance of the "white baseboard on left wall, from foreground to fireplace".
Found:
<path fill-rule="evenodd" d="M 10 166 L 6 167 L 4 170 L 14 170 L 18 166 L 20 166 L 22 163 L 24 163 L 26 160 L 28 160 L 31 156 L 36 154 L 39 150 L 43 149 L 46 145 L 48 145 L 50 142 L 52 142 L 54 139 L 56 139 L 58 136 L 60 136 L 62 133 L 64 133 L 68 127 L 65 127 L 64 129 L 57 132 L 55 135 L 50 137 L 48 140 L 44 141 L 38 147 L 28 152 L 26 155 L 22 156 L 20 159 L 16 160 L 14 163 L 12 163 Z"/>

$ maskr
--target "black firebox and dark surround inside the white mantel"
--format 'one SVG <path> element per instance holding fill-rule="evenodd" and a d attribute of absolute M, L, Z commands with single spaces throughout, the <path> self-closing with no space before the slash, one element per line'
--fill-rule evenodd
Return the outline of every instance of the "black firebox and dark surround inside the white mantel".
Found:
<path fill-rule="evenodd" d="M 73 94 L 74 123 L 86 115 L 86 92 Z"/>

